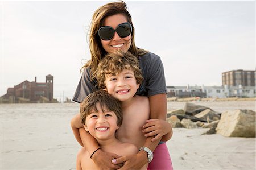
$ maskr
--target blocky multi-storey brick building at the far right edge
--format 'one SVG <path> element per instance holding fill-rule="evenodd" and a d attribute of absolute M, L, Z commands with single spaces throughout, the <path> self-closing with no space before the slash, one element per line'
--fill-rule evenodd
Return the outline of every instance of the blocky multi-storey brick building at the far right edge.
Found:
<path fill-rule="evenodd" d="M 222 86 L 255 86 L 255 71 L 234 70 L 222 73 Z"/>

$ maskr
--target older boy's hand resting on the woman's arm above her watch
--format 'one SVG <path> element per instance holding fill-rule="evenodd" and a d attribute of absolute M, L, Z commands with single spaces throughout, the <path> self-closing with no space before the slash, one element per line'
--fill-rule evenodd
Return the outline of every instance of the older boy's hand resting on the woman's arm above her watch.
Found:
<path fill-rule="evenodd" d="M 162 119 L 149 119 L 146 121 L 146 124 L 143 125 L 142 132 L 146 138 L 155 136 L 155 138 L 151 139 L 151 141 L 154 142 L 161 139 L 162 136 L 166 135 L 167 133 L 172 132 L 172 127 L 170 123 Z"/>

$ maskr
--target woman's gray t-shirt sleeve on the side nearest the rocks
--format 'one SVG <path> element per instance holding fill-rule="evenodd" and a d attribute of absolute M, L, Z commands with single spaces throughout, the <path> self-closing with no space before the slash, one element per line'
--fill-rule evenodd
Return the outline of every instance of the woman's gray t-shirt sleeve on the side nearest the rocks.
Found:
<path fill-rule="evenodd" d="M 154 54 L 152 54 L 154 55 Z M 152 57 L 146 69 L 146 90 L 147 96 L 167 93 L 166 79 L 164 77 L 164 67 L 159 56 Z"/>

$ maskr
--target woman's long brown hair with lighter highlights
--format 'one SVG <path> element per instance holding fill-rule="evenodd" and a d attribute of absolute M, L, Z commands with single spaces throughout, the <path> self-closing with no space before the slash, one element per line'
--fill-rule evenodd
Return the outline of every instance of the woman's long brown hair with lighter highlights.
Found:
<path fill-rule="evenodd" d="M 131 23 L 133 26 L 133 22 L 131 21 L 131 15 L 127 11 L 127 5 L 123 1 L 118 2 L 110 2 L 101 7 L 99 7 L 93 14 L 92 22 L 90 23 L 90 33 L 89 33 L 89 48 L 91 53 L 91 59 L 84 65 L 84 67 L 90 67 L 91 73 L 97 69 L 98 64 L 101 59 L 108 53 L 101 45 L 100 37 L 98 36 L 98 29 L 103 26 L 105 18 L 108 16 L 113 16 L 115 14 L 122 14 L 126 17 L 127 22 Z M 130 53 L 134 56 L 142 56 L 148 51 L 144 49 L 139 49 L 135 46 L 134 42 L 134 27 L 131 32 L 131 46 L 128 49 Z M 84 68 L 82 67 L 82 68 Z M 92 79 L 95 77 L 91 77 Z"/>

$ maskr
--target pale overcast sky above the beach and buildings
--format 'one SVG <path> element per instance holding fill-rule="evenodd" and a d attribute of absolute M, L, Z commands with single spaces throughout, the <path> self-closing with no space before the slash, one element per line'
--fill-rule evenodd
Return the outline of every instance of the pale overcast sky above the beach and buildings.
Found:
<path fill-rule="evenodd" d="M 54 76 L 71 98 L 90 59 L 94 10 L 111 1 L 1 1 L 1 94 Z M 137 47 L 159 55 L 166 84 L 221 85 L 221 73 L 255 69 L 254 1 L 126 1 Z"/>

